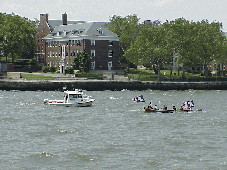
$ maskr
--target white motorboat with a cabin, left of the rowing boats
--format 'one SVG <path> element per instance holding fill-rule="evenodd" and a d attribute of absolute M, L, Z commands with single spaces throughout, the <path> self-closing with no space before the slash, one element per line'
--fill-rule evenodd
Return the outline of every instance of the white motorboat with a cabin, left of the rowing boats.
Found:
<path fill-rule="evenodd" d="M 63 100 L 49 100 L 44 99 L 44 104 L 55 105 L 55 106 L 75 106 L 75 107 L 87 107 L 91 106 L 95 99 L 90 96 L 84 95 L 80 89 L 75 91 L 64 91 Z"/>

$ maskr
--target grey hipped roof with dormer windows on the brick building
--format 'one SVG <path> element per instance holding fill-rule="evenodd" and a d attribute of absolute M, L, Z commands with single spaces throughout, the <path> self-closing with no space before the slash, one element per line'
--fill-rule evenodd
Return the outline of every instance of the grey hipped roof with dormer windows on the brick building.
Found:
<path fill-rule="evenodd" d="M 119 36 L 105 27 L 105 22 L 84 22 L 68 25 L 57 25 L 45 40 L 65 41 L 73 39 L 111 39 L 119 40 Z"/>

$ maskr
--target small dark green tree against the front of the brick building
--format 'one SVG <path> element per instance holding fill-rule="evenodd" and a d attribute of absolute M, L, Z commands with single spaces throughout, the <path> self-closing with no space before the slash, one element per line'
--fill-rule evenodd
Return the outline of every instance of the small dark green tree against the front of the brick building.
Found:
<path fill-rule="evenodd" d="M 91 69 L 91 57 L 86 50 L 77 53 L 73 61 L 73 68 L 80 72 L 89 72 Z"/>

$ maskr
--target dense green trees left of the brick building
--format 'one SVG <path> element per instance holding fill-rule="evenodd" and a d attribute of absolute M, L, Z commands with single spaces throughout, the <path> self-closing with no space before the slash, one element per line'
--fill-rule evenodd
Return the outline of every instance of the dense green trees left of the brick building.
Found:
<path fill-rule="evenodd" d="M 4 61 L 34 58 L 35 24 L 15 14 L 0 13 L 0 56 Z"/>

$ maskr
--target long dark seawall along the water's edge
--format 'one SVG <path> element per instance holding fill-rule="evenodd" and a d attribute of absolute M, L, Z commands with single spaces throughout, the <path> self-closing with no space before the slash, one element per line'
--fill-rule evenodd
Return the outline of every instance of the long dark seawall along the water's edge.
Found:
<path fill-rule="evenodd" d="M 227 81 L 212 82 L 140 82 L 140 81 L 0 81 L 0 90 L 21 91 L 55 91 L 67 87 L 68 90 L 83 89 L 89 91 L 102 90 L 227 90 Z"/>

